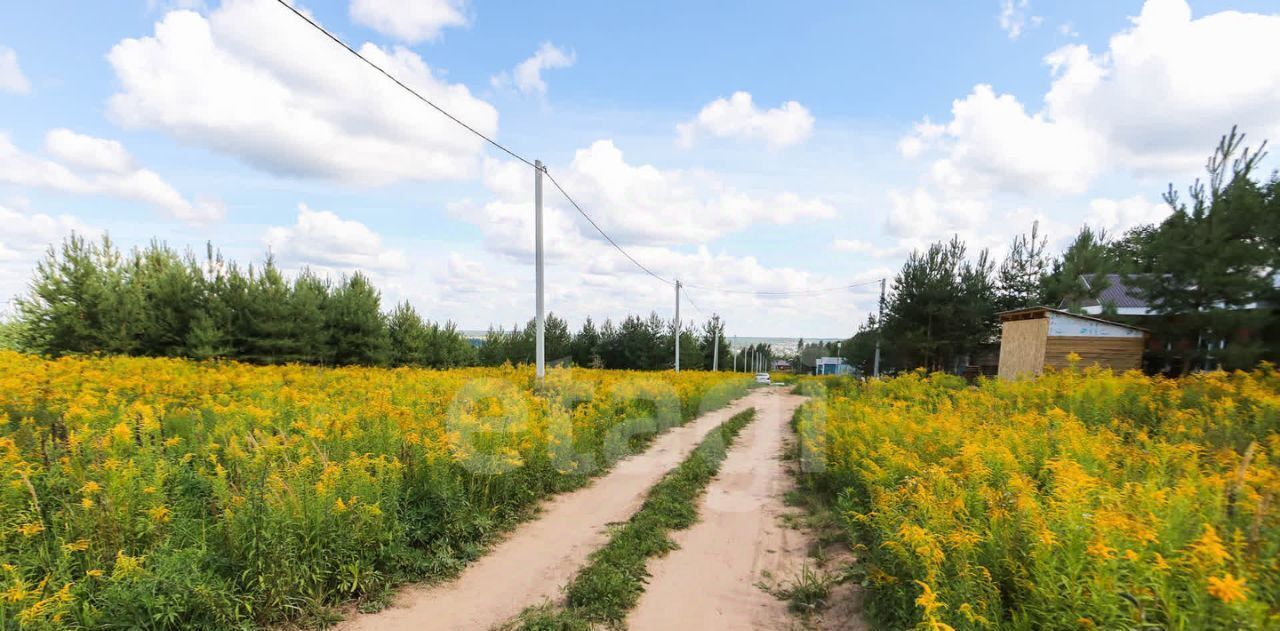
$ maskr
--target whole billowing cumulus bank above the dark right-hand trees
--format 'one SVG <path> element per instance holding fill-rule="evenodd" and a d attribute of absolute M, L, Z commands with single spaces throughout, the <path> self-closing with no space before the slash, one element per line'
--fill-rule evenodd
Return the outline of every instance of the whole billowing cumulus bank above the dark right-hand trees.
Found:
<path fill-rule="evenodd" d="M 979 84 L 952 102 L 950 120 L 924 120 L 900 141 L 904 156 L 928 163 L 918 191 L 891 196 L 892 233 L 964 232 L 1001 195 L 1078 196 L 1105 173 L 1185 178 L 1236 123 L 1280 134 L 1280 15 L 1193 19 L 1184 0 L 1148 0 L 1106 50 L 1073 44 L 1043 61 L 1051 81 L 1038 110 Z M 1129 227 L 1162 216 L 1152 207 L 1126 200 L 1091 212 Z"/>

